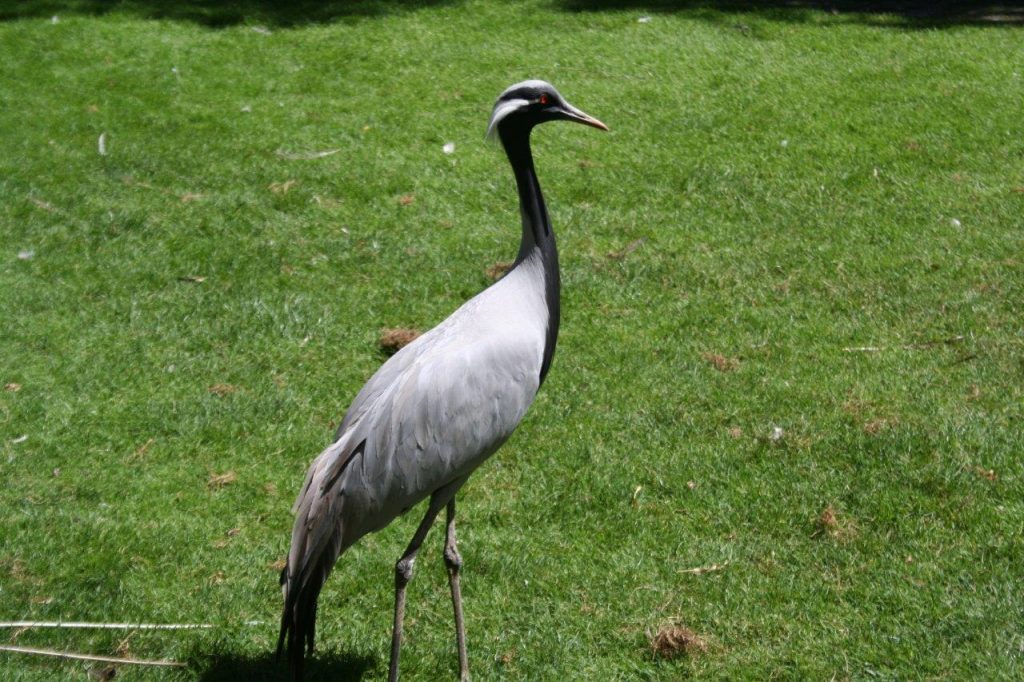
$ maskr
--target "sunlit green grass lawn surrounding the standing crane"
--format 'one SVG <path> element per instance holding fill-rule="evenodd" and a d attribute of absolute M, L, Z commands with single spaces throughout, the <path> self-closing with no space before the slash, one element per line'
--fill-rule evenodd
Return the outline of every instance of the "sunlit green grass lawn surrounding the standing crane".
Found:
<path fill-rule="evenodd" d="M 284 675 L 305 467 L 380 330 L 514 255 L 482 134 L 541 77 L 612 132 L 535 136 L 562 336 L 460 498 L 474 677 L 1020 679 L 1019 29 L 654 5 L 8 5 L 0 620 L 217 629 L 0 639 L 189 663 L 125 679 Z M 312 677 L 383 676 L 418 521 L 343 557 Z M 409 679 L 457 670 L 440 545 Z M 708 650 L 655 657 L 671 623 Z M 84 667 L 0 653 L 0 679 L 58 676 Z"/>

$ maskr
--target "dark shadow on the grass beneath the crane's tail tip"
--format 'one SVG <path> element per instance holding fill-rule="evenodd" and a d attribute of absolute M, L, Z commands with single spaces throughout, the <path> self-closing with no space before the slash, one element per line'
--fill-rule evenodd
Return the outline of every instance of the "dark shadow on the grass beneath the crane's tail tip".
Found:
<path fill-rule="evenodd" d="M 221 654 L 197 657 L 193 667 L 201 682 L 291 682 L 288 665 L 273 653 L 258 656 Z M 368 656 L 350 653 L 318 652 L 306 659 L 306 682 L 354 682 L 362 680 L 375 668 Z"/>

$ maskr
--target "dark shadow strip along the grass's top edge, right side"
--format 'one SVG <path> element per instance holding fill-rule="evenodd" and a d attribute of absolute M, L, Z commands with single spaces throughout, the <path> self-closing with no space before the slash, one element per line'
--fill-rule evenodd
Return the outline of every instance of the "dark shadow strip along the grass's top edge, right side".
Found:
<path fill-rule="evenodd" d="M 849 15 L 865 24 L 915 28 L 944 26 L 1022 26 L 1024 0 L 965 2 L 963 0 L 554 0 L 568 11 L 609 9 L 649 12 L 758 12 L 771 18 L 803 22 L 813 11 Z M 895 18 L 887 20 L 883 15 Z"/>

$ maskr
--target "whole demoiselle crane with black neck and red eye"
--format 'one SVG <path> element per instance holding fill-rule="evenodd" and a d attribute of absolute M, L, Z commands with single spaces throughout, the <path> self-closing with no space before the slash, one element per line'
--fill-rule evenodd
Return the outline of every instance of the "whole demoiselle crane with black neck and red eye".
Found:
<path fill-rule="evenodd" d="M 295 503 L 295 525 L 281 582 L 285 608 L 278 652 L 287 643 L 302 676 L 313 649 L 316 599 L 338 556 L 425 498 L 427 513 L 394 568 L 389 680 L 398 677 L 406 586 L 423 540 L 446 508 L 444 563 L 455 608 L 459 674 L 469 677 L 456 547 L 455 496 L 512 434 L 551 368 L 558 338 L 558 251 L 529 134 L 546 121 L 607 130 L 549 83 L 524 81 L 495 103 L 497 136 L 515 174 L 522 241 L 504 278 L 392 355 L 355 396 L 335 440 L 313 461 Z"/>

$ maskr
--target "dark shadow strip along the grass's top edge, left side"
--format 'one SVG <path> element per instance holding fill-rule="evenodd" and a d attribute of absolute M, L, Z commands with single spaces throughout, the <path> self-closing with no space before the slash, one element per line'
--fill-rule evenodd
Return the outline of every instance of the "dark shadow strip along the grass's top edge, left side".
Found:
<path fill-rule="evenodd" d="M 193 22 L 210 28 L 239 24 L 289 28 L 396 14 L 457 0 L 0 0 L 0 22 L 119 13 Z"/>

